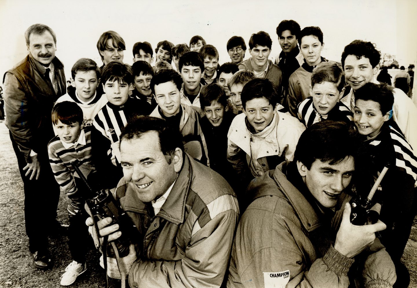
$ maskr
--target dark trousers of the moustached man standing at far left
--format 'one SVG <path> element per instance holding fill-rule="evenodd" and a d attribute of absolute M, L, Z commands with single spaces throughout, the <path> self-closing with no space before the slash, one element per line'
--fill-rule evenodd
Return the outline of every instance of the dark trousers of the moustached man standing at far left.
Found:
<path fill-rule="evenodd" d="M 30 174 L 25 176 L 27 170 L 25 155 L 20 152 L 18 145 L 10 133 L 13 150 L 18 158 L 20 176 L 23 180 L 25 191 L 25 227 L 29 238 L 29 250 L 31 253 L 48 250 L 48 233 L 56 219 L 56 209 L 59 201 L 59 185 L 56 182 L 49 165 L 47 153 L 38 154 L 40 163 L 40 175 L 38 180 L 29 180 Z M 45 145 L 45 152 L 46 152 Z"/>

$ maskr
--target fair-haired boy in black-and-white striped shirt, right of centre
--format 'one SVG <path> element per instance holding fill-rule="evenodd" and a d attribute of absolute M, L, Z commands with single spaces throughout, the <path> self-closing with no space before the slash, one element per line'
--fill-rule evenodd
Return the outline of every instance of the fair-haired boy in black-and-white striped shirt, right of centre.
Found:
<path fill-rule="evenodd" d="M 310 97 L 297 107 L 297 117 L 309 127 L 322 120 L 352 121 L 352 113 L 342 102 L 344 73 L 334 62 L 322 62 L 311 75 Z"/>

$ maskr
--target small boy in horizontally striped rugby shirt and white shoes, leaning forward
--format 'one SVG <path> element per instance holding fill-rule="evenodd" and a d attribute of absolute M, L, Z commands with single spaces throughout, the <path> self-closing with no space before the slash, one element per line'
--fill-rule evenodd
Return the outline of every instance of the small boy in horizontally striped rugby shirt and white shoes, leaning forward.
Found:
<path fill-rule="evenodd" d="M 52 111 L 52 122 L 58 135 L 48 143 L 49 162 L 55 180 L 71 200 L 67 207 L 70 221 L 68 246 L 73 262 L 68 265 L 61 277 L 61 285 L 66 286 L 74 283 L 77 276 L 87 270 L 85 262 L 87 245 L 85 243 L 88 240 L 88 229 L 85 226 L 85 219 L 88 218 L 88 214 L 84 210 L 84 204 L 85 199 L 90 198 L 91 192 L 75 172 L 73 165 L 79 166 L 83 175 L 88 178 L 90 186 L 96 190 L 112 188 L 107 186 L 109 182 L 94 181 L 94 178 L 99 179 L 100 171 L 106 171 L 110 175 L 111 172 L 97 162 L 98 159 L 103 158 L 100 157 L 100 147 L 92 149 L 92 131 L 89 128 L 83 129 L 83 111 L 77 103 L 70 101 L 57 103 Z M 92 150 L 94 150 L 95 158 L 91 153 Z M 105 150 L 101 153 L 106 155 Z M 78 164 L 74 164 L 74 161 Z M 96 171 L 96 167 L 103 170 Z M 106 181 L 109 179 L 108 177 L 100 178 Z"/>

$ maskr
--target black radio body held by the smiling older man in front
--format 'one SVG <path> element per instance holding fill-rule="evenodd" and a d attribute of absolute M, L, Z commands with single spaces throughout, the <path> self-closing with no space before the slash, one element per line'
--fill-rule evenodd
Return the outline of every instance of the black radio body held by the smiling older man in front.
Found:
<path fill-rule="evenodd" d="M 109 225 L 119 225 L 119 231 L 122 232 L 122 235 L 113 242 L 116 244 L 119 256 L 127 256 L 129 254 L 129 245 L 131 244 L 129 239 L 135 232 L 136 227 L 126 212 L 120 208 L 110 190 L 102 189 L 96 193 L 93 199 L 87 199 L 85 202 L 93 218 L 97 216 L 100 219 L 111 217 L 113 221 Z M 107 248 L 107 255 L 113 258 L 115 257 L 113 248 L 110 245 Z"/>

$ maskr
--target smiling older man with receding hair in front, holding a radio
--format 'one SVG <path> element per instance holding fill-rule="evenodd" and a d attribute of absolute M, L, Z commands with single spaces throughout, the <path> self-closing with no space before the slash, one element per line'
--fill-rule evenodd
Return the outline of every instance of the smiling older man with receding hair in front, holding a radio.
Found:
<path fill-rule="evenodd" d="M 219 287 L 239 216 L 229 184 L 186 154 L 178 128 L 163 119 L 139 116 L 120 139 L 123 178 L 115 198 L 139 233 L 121 258 L 129 285 Z M 111 220 L 97 223 L 109 241 L 121 235 Z M 120 278 L 114 258 L 107 263 L 109 276 Z"/>

